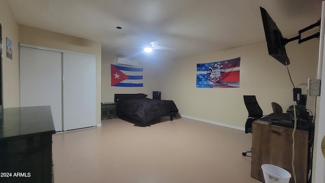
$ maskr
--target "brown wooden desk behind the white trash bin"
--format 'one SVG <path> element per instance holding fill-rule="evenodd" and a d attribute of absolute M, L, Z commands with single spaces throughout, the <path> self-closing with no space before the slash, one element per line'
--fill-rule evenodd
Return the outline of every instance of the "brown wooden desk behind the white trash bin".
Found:
<path fill-rule="evenodd" d="M 280 132 L 278 135 L 273 131 Z M 251 177 L 264 182 L 261 165 L 272 164 L 291 173 L 290 183 L 294 182 L 292 161 L 293 129 L 269 125 L 256 120 L 252 124 Z M 308 170 L 308 131 L 295 133 L 295 170 L 297 183 L 307 182 Z"/>

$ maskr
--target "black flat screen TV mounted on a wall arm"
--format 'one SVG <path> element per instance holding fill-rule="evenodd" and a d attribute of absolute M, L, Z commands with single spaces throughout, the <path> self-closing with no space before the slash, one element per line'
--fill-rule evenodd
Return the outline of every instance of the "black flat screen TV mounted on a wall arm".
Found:
<path fill-rule="evenodd" d="M 262 8 L 262 20 L 264 26 L 264 32 L 266 37 L 266 42 L 268 45 L 269 55 L 273 56 L 276 60 L 278 60 L 283 65 L 289 65 L 290 60 L 286 55 L 285 51 L 285 39 L 282 36 L 282 33 L 276 23 L 272 20 L 271 16 L 268 12 Z"/>

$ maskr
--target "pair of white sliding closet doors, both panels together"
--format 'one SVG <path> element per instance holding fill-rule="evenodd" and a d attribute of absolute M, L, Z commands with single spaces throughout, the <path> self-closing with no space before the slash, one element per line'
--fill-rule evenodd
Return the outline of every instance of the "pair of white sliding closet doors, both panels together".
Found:
<path fill-rule="evenodd" d="M 20 49 L 20 106 L 50 105 L 55 131 L 96 126 L 96 57 L 43 47 Z"/>

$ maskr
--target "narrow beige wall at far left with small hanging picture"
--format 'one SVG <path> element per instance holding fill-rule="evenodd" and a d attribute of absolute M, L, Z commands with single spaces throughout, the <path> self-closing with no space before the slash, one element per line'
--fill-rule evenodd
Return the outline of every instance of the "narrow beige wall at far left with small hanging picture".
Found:
<path fill-rule="evenodd" d="M 19 26 L 7 1 L 0 1 L 0 23 L 3 45 L 3 96 L 4 108 L 19 106 Z M 12 41 L 13 57 L 6 54 L 6 37 Z"/>

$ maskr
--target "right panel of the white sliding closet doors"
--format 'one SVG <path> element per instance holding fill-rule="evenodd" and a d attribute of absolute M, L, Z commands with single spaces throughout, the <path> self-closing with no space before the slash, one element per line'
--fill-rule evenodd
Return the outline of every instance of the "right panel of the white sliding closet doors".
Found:
<path fill-rule="evenodd" d="M 63 53 L 63 129 L 96 126 L 96 58 Z"/>

